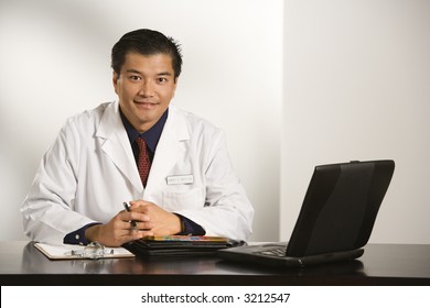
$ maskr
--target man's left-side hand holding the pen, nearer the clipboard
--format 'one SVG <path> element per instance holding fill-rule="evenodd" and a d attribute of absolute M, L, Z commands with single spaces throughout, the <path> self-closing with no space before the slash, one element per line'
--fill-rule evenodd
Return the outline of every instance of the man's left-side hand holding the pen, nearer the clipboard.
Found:
<path fill-rule="evenodd" d="M 152 235 L 151 231 L 135 230 L 131 220 L 138 221 L 138 229 L 144 229 L 148 224 L 148 216 L 140 212 L 122 210 L 118 212 L 108 223 L 89 227 L 85 231 L 88 241 L 98 242 L 106 246 L 120 246 L 123 243 L 139 240 L 144 235 Z M 148 224 L 149 227 L 151 224 Z"/>

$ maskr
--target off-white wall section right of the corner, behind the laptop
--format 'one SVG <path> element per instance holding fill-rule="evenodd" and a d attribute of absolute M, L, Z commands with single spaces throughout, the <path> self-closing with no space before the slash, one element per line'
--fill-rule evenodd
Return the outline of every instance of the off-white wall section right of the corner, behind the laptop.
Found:
<path fill-rule="evenodd" d="M 430 243 L 430 1 L 284 6 L 280 237 L 313 166 L 393 158 L 370 242 Z"/>

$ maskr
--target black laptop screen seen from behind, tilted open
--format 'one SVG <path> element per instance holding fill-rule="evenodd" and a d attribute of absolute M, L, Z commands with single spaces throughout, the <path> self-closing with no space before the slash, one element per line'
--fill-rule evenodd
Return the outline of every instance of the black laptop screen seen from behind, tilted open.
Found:
<path fill-rule="evenodd" d="M 287 255 L 315 255 L 364 246 L 394 168 L 394 161 L 316 166 Z"/>

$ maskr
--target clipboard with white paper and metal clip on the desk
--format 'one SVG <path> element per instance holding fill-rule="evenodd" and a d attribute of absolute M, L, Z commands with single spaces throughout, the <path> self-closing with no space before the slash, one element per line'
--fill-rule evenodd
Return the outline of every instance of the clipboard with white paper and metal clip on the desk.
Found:
<path fill-rule="evenodd" d="M 51 245 L 45 243 L 34 243 L 34 246 L 50 260 L 135 257 L 135 254 L 123 248 L 99 246 L 98 253 L 85 254 L 85 250 L 88 246 L 68 244 Z"/>

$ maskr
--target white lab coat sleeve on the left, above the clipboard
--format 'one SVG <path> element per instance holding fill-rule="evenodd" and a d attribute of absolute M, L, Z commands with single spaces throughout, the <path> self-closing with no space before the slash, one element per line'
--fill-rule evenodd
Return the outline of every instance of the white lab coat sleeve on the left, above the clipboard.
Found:
<path fill-rule="evenodd" d="M 44 155 L 21 212 L 31 240 L 63 243 L 63 238 L 94 220 L 74 211 L 80 145 L 85 144 L 69 120 Z"/>

